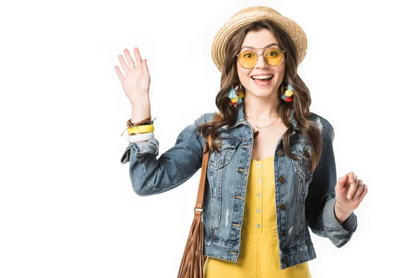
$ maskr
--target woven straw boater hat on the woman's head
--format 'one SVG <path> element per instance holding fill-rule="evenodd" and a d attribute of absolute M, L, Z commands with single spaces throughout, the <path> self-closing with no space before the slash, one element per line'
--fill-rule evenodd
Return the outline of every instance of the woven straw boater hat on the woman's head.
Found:
<path fill-rule="evenodd" d="M 302 28 L 293 20 L 284 17 L 277 10 L 272 8 L 255 6 L 245 8 L 235 13 L 222 28 L 217 31 L 212 42 L 212 59 L 218 70 L 222 72 L 225 60 L 226 42 L 231 39 L 231 35 L 238 28 L 260 19 L 269 19 L 279 25 L 291 38 L 296 47 L 297 66 L 302 62 L 307 54 L 308 41 Z"/>

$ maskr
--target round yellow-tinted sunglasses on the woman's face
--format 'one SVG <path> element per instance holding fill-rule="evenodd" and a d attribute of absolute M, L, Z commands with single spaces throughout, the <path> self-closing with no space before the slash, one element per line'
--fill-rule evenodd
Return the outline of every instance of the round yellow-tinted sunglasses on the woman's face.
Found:
<path fill-rule="evenodd" d="M 238 57 L 238 63 L 245 69 L 251 69 L 258 61 L 258 54 L 251 50 L 245 50 L 236 55 Z M 270 48 L 263 53 L 264 60 L 269 65 L 280 65 L 284 60 L 284 50 L 279 48 Z"/>

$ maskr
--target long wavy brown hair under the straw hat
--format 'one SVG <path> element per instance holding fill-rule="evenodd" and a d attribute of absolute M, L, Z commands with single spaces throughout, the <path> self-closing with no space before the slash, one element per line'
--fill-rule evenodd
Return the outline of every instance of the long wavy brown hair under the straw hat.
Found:
<path fill-rule="evenodd" d="M 288 127 L 283 136 L 284 151 L 291 159 L 297 159 L 297 157 L 291 152 L 289 144 L 289 138 L 293 131 L 293 126 L 288 120 L 288 117 L 286 117 L 286 115 L 290 113 L 291 107 L 293 106 L 295 108 L 294 118 L 299 126 L 300 132 L 311 143 L 312 153 L 309 161 L 309 170 L 314 172 L 319 162 L 323 144 L 318 124 L 309 120 L 311 95 L 307 85 L 305 85 L 302 79 L 300 79 L 300 76 L 297 74 L 297 55 L 293 41 L 288 37 L 286 32 L 277 26 L 277 24 L 274 24 L 274 22 L 270 22 L 269 20 L 260 20 L 258 22 L 242 26 L 235 31 L 235 33 L 233 33 L 231 40 L 227 42 L 226 58 L 221 74 L 221 89 L 217 93 L 215 100 L 219 113 L 222 114 L 222 120 L 201 124 L 201 126 L 198 127 L 197 134 L 199 136 L 201 133 L 203 139 L 205 140 L 205 153 L 208 151 L 209 147 L 209 133 L 212 140 L 212 150 L 219 152 L 219 148 L 215 144 L 215 139 L 218 139 L 217 129 L 225 125 L 232 126 L 235 124 L 238 117 L 238 108 L 231 106 L 228 98 L 229 90 L 233 85 L 236 85 L 236 81 L 238 81 L 236 55 L 240 52 L 240 47 L 242 46 L 242 42 L 244 42 L 245 35 L 247 35 L 249 31 L 260 31 L 263 28 L 272 32 L 274 38 L 276 38 L 277 42 L 279 42 L 280 49 L 285 50 L 286 55 L 284 79 L 279 87 L 279 91 L 277 92 L 277 98 L 279 99 L 279 115 L 284 125 Z M 293 101 L 290 102 L 286 102 L 280 97 L 282 87 L 287 86 L 288 84 L 291 84 L 293 87 Z M 242 90 L 245 94 L 245 88 L 242 88 Z"/>

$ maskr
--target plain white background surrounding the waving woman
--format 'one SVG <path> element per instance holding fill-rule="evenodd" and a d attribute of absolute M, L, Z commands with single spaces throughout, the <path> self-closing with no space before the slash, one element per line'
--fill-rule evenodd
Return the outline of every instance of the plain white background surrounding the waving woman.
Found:
<path fill-rule="evenodd" d="M 1 25 L 0 277 L 176 277 L 200 170 L 165 194 L 132 190 L 114 71 L 139 47 L 160 154 L 217 110 L 210 47 L 242 8 L 307 33 L 299 74 L 334 126 L 337 174 L 369 186 L 341 249 L 312 235 L 313 277 L 418 277 L 413 1 L 13 1 Z M 119 65 L 120 66 L 120 65 Z"/>

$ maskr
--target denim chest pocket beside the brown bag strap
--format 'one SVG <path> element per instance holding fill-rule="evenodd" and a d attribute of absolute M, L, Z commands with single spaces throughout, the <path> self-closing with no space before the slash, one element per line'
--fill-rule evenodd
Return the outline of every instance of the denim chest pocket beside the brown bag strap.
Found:
<path fill-rule="evenodd" d="M 219 152 L 212 150 L 209 157 L 209 167 L 211 170 L 217 171 L 227 165 L 235 153 L 240 140 L 232 138 L 219 138 L 215 140 L 215 144 L 219 148 Z"/>

